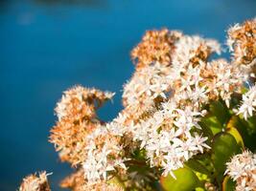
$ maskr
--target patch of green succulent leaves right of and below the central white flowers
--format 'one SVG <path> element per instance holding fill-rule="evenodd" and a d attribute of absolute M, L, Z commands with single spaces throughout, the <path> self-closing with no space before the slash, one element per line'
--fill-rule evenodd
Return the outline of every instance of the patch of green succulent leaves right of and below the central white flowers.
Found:
<path fill-rule="evenodd" d="M 224 177 L 226 162 L 243 149 L 256 149 L 256 117 L 247 121 L 236 116 L 221 101 L 214 101 L 199 121 L 211 150 L 189 159 L 183 168 L 175 170 L 176 180 L 168 175 L 160 182 L 164 190 L 207 190 L 206 184 L 218 185 L 223 191 L 233 191 L 235 182 Z"/>

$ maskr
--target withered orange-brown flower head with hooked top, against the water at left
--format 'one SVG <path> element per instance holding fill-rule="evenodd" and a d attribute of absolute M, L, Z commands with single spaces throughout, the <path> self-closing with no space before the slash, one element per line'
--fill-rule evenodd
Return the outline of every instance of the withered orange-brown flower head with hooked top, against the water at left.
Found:
<path fill-rule="evenodd" d="M 69 161 L 72 165 L 84 161 L 87 155 L 85 138 L 101 124 L 96 110 L 112 96 L 112 93 L 81 86 L 64 92 L 56 108 L 58 122 L 51 130 L 50 137 L 60 151 L 61 160 Z"/>

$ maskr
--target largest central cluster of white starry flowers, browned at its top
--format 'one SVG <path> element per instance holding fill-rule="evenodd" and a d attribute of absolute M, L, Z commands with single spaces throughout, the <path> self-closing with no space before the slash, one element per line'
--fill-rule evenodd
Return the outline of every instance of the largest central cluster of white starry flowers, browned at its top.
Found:
<path fill-rule="evenodd" d="M 206 113 L 202 108 L 220 97 L 229 106 L 231 95 L 241 92 L 244 73 L 223 59 L 208 61 L 211 53 L 221 53 L 215 40 L 164 32 L 165 36 L 171 35 L 167 39 L 175 39 L 170 59 L 166 59 L 169 62 L 151 60 L 149 64 L 145 52 L 140 55 L 137 51 L 142 46 L 144 51 L 151 50 L 145 39 L 158 37 L 163 31 L 158 35 L 152 32 L 151 38 L 147 32 L 133 51 L 139 57 L 139 65 L 124 87 L 126 108 L 122 115 L 127 120 L 122 125 L 128 124 L 133 140 L 141 142 L 140 149 L 147 151 L 151 166 L 159 166 L 168 174 L 202 153 L 203 148 L 209 148 L 204 143 L 207 138 L 192 133 L 193 129 L 200 129 L 198 120 Z M 154 40 L 154 47 L 160 44 L 162 40 Z M 151 52 L 151 57 L 157 57 L 153 53 L 156 52 Z"/>

